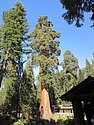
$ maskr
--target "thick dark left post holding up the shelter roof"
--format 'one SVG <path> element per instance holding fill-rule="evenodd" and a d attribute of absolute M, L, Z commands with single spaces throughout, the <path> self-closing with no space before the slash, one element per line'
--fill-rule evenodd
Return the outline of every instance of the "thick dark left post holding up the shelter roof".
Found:
<path fill-rule="evenodd" d="M 72 102 L 75 125 L 85 125 L 84 114 L 82 110 L 82 103 L 79 100 L 74 100 Z"/>

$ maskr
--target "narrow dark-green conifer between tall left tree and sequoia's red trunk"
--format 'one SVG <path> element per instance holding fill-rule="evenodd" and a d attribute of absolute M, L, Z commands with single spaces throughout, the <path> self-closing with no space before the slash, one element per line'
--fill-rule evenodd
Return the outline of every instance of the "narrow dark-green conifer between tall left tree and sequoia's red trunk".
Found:
<path fill-rule="evenodd" d="M 37 108 L 37 90 L 34 84 L 34 74 L 30 61 L 27 62 L 23 73 L 20 94 L 22 112 L 32 115 L 35 114 Z"/>

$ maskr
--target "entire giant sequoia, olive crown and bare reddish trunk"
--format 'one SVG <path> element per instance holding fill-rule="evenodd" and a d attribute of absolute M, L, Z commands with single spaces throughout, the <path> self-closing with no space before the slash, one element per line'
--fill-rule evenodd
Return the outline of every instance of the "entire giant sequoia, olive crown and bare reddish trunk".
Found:
<path fill-rule="evenodd" d="M 59 63 L 57 56 L 60 55 L 59 41 L 55 40 L 60 37 L 60 33 L 52 30 L 51 26 L 52 22 L 48 20 L 48 17 L 41 16 L 31 33 L 32 60 L 39 66 L 40 112 L 44 119 L 50 119 L 52 115 L 46 82 L 49 72 Z"/>

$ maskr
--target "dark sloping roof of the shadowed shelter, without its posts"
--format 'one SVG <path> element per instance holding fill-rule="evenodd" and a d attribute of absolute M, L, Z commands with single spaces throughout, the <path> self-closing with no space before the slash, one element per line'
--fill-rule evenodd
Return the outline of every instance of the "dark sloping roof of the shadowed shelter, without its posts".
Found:
<path fill-rule="evenodd" d="M 60 97 L 65 101 L 79 99 L 81 101 L 94 101 L 94 77 L 88 76 L 85 80 L 74 86 Z"/>

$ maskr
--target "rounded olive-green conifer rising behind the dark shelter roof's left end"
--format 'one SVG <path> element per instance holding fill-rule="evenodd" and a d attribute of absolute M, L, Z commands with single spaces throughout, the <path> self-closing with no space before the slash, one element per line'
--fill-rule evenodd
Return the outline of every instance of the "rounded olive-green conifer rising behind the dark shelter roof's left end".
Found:
<path fill-rule="evenodd" d="M 66 92 L 77 84 L 76 80 L 79 70 L 78 59 L 69 50 L 66 50 L 64 53 L 63 69 L 64 91 Z"/>

